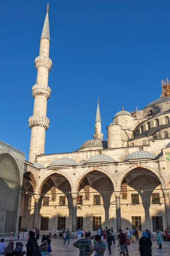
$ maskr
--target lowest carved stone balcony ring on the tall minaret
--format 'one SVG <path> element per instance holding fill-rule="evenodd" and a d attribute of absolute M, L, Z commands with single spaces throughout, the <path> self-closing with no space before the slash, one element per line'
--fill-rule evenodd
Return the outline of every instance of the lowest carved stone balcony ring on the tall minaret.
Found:
<path fill-rule="evenodd" d="M 28 119 L 28 124 L 29 128 L 33 128 L 34 126 L 41 126 L 47 130 L 50 125 L 50 120 L 45 116 L 30 116 Z"/>

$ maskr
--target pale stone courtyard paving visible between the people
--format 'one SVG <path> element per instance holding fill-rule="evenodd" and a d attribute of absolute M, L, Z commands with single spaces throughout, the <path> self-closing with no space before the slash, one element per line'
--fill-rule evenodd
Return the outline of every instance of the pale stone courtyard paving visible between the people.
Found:
<path fill-rule="evenodd" d="M 52 239 L 51 240 L 51 256 L 79 256 L 79 249 L 75 248 L 73 246 L 73 243 L 77 241 L 77 239 L 70 239 L 70 243 L 63 244 L 62 239 Z M 21 241 L 24 245 L 26 241 Z M 6 242 L 8 244 L 8 242 Z M 38 241 L 38 244 L 41 244 L 41 239 Z M 118 244 L 118 241 L 116 240 L 116 244 Z M 129 256 L 140 256 L 140 253 L 138 251 L 138 244 L 139 241 L 136 241 L 133 244 L 130 244 L 128 246 L 129 250 Z M 156 241 L 153 241 L 153 256 L 170 256 L 170 242 L 164 242 L 162 243 L 162 250 L 158 250 L 159 246 L 157 245 Z M 119 256 L 119 247 L 117 245 L 111 246 L 111 256 Z M 94 256 L 95 252 L 92 254 Z M 105 256 L 108 255 L 108 249 L 105 251 Z"/>

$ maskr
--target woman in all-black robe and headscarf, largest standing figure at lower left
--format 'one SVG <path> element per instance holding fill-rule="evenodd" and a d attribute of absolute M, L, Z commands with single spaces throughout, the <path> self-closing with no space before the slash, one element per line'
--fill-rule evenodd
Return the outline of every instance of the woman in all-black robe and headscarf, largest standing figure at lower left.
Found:
<path fill-rule="evenodd" d="M 35 233 L 33 231 L 29 231 L 28 236 L 29 236 L 29 240 L 26 244 L 26 247 L 27 247 L 26 256 L 41 256 L 37 239 L 35 237 Z"/>

